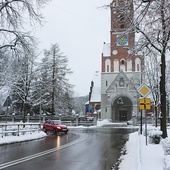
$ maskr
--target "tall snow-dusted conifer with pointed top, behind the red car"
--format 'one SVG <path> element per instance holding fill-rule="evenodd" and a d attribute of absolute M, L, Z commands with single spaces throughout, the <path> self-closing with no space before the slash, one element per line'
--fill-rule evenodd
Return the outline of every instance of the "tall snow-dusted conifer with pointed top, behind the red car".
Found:
<path fill-rule="evenodd" d="M 67 68 L 67 63 L 68 59 L 60 52 L 58 44 L 53 44 L 49 50 L 44 51 L 44 58 L 37 70 L 38 91 L 34 90 L 33 95 L 44 110 L 53 115 L 65 113 L 71 108 L 72 85 L 67 75 L 72 72 Z"/>

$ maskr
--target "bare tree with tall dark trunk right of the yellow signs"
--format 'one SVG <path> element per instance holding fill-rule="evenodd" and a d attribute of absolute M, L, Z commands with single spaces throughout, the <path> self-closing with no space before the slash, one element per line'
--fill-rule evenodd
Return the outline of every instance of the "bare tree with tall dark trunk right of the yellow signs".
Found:
<path fill-rule="evenodd" d="M 166 129 L 166 58 L 170 43 L 170 1 L 169 0 L 136 0 L 134 1 L 135 19 L 132 28 L 140 33 L 138 50 L 157 51 L 160 57 L 160 102 L 162 137 L 167 137 Z"/>

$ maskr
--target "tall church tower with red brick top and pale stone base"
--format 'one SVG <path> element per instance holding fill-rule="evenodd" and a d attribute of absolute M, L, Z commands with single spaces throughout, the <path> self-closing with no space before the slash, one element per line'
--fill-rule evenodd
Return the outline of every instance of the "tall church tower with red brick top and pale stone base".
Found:
<path fill-rule="evenodd" d="M 110 43 L 103 44 L 101 68 L 101 118 L 127 121 L 138 115 L 137 87 L 141 84 L 142 62 L 131 49 L 135 45 L 133 0 L 110 4 Z"/>

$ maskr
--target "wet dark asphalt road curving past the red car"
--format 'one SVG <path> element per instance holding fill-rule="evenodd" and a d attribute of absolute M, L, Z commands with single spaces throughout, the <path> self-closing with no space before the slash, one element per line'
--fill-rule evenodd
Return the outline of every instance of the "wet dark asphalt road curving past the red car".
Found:
<path fill-rule="evenodd" d="M 0 146 L 0 169 L 110 170 L 129 129 L 70 129 L 67 135 Z"/>

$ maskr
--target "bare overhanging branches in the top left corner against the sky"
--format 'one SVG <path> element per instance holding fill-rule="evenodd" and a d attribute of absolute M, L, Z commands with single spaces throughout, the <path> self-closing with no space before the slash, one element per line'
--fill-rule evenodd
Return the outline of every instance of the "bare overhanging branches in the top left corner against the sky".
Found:
<path fill-rule="evenodd" d="M 48 1 L 48 0 L 47 0 Z M 0 51 L 12 51 L 12 55 L 30 53 L 35 39 L 26 31 L 35 23 L 42 23 L 40 7 L 45 0 L 1 0 L 0 1 Z M 35 44 L 34 44 L 35 45 Z"/>

